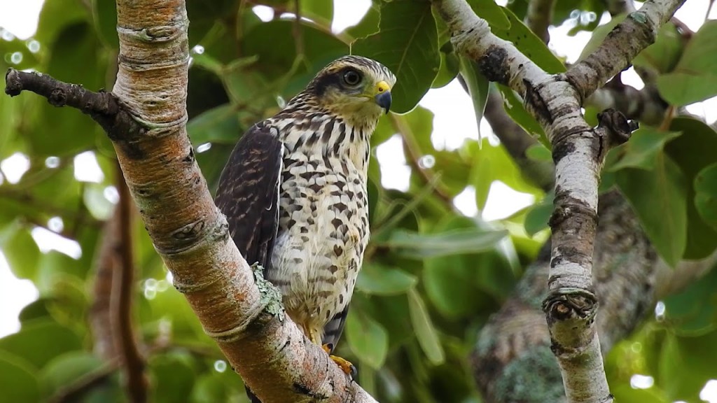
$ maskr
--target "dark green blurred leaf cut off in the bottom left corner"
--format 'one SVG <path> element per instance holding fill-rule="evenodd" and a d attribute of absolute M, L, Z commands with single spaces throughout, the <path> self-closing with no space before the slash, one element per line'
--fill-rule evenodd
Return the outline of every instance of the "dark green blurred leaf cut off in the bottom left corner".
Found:
<path fill-rule="evenodd" d="M 19 355 L 16 355 L 19 354 Z M 0 390 L 4 402 L 39 402 L 37 369 L 22 353 L 0 351 Z"/>

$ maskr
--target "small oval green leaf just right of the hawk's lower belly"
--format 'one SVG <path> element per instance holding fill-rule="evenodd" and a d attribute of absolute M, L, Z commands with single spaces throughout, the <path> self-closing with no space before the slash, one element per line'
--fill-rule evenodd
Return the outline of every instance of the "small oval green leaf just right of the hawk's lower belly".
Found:
<path fill-rule="evenodd" d="M 404 270 L 368 263 L 359 272 L 356 289 L 367 294 L 398 295 L 406 293 L 417 282 L 416 276 Z"/>

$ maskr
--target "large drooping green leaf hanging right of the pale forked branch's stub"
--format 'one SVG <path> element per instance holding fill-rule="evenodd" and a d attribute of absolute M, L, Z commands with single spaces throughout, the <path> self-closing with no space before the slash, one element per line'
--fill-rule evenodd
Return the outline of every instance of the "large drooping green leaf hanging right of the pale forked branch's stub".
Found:
<path fill-rule="evenodd" d="M 622 169 L 616 180 L 657 253 L 675 267 L 687 243 L 687 189 L 680 167 L 658 153 L 653 171 Z"/>

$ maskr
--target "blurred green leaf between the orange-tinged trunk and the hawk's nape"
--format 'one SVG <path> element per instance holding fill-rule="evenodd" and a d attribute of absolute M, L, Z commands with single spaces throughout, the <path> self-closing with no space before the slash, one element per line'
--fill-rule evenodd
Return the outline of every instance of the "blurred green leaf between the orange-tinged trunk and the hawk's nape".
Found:
<path fill-rule="evenodd" d="M 237 110 L 229 104 L 217 106 L 189 120 L 186 130 L 194 146 L 203 143 L 234 144 L 241 134 Z"/>

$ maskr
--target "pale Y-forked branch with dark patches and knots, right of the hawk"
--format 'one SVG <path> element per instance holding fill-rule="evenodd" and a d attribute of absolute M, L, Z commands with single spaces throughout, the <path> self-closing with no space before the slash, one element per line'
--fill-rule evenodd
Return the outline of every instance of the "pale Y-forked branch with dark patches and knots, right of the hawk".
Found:
<path fill-rule="evenodd" d="M 548 297 L 543 300 L 551 350 L 561 369 L 568 402 L 612 402 L 605 378 L 595 318 L 592 256 L 597 229 L 599 172 L 609 148 L 634 127 L 624 115 L 602 113 L 597 128 L 581 115 L 583 101 L 654 42 L 657 29 L 683 3 L 648 1 L 607 35 L 586 60 L 549 75 L 510 42 L 495 37 L 463 0 L 434 0 L 452 31 L 458 52 L 478 62 L 490 81 L 521 94 L 541 123 L 556 165 L 555 209 Z"/>

